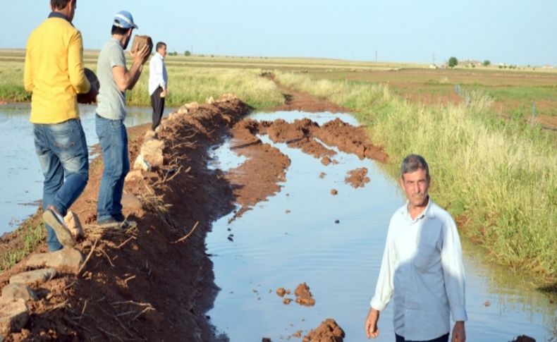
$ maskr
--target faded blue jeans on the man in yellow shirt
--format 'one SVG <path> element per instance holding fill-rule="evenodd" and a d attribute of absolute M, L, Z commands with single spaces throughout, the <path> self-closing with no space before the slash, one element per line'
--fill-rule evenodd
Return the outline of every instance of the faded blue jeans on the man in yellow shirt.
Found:
<path fill-rule="evenodd" d="M 35 123 L 33 135 L 35 152 L 44 175 L 42 209 L 53 205 L 61 215 L 66 216 L 89 179 L 89 154 L 81 121 L 71 119 L 56 124 Z M 49 225 L 46 226 L 49 250 L 53 252 L 61 249 L 56 233 Z"/>

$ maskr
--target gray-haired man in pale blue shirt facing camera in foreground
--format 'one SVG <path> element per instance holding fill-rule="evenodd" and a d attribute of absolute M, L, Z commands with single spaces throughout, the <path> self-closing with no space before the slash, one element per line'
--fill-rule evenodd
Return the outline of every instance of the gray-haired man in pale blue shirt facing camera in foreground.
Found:
<path fill-rule="evenodd" d="M 368 338 L 379 336 L 377 321 L 393 298 L 396 342 L 465 342 L 465 281 L 462 248 L 451 214 L 428 195 L 429 166 L 410 154 L 400 168 L 408 202 L 388 226 L 379 279 L 365 321 Z"/>

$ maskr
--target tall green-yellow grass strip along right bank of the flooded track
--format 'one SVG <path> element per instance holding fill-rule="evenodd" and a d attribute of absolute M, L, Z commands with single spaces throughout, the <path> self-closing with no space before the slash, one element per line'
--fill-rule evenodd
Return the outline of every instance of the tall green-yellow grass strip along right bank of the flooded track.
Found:
<path fill-rule="evenodd" d="M 277 75 L 288 87 L 352 109 L 374 142 L 386 148 L 393 177 L 405 155 L 426 157 L 432 197 L 466 222 L 463 233 L 496 262 L 556 275 L 553 133 L 492 114 L 491 101 L 481 92 L 472 92 L 468 106 L 424 106 L 393 96 L 384 85 Z"/>

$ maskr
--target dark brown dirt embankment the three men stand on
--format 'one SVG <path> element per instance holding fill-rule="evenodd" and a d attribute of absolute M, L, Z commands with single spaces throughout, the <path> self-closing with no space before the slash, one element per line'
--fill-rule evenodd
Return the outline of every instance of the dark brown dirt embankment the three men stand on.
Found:
<path fill-rule="evenodd" d="M 239 100 L 217 102 L 164 122 L 165 166 L 126 183 L 125 192 L 143 204 L 124 211 L 138 222 L 132 230 L 91 225 L 102 176 L 102 160 L 94 161 L 87 188 L 71 208 L 85 224 L 85 240 L 76 248 L 83 255 L 92 250 L 91 257 L 80 276 L 62 274 L 34 286 L 39 300 L 28 303 L 27 324 L 6 341 L 214 340 L 205 313 L 217 288 L 204 238 L 212 221 L 233 209 L 235 196 L 221 172 L 207 169 L 207 149 L 249 111 Z M 129 130 L 132 164 L 146 130 Z M 37 252 L 45 251 L 43 245 Z M 24 270 L 18 264 L 1 274 L 0 286 Z"/>

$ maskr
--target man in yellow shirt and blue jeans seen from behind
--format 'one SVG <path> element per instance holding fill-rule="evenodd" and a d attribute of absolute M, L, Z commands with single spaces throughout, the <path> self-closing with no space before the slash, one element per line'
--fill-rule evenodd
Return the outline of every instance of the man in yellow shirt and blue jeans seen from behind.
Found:
<path fill-rule="evenodd" d="M 89 92 L 91 85 L 83 68 L 81 33 L 71 23 L 76 1 L 50 1 L 52 12 L 31 33 L 25 54 L 24 83 L 32 92 L 30 121 L 44 174 L 42 217 L 51 252 L 75 244 L 63 216 L 89 179 L 77 94 Z"/>

